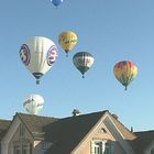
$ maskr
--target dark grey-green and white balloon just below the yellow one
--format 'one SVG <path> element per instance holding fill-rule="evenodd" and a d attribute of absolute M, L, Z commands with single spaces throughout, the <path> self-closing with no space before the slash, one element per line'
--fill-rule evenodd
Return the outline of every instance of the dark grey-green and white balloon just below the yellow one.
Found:
<path fill-rule="evenodd" d="M 74 55 L 73 63 L 76 68 L 82 74 L 82 78 L 85 73 L 92 66 L 94 57 L 91 54 L 87 52 L 79 52 Z"/>

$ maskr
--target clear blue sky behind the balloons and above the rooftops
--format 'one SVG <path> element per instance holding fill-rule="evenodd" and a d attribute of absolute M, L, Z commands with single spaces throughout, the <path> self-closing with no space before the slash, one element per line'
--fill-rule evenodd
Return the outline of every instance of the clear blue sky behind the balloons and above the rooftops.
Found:
<path fill-rule="evenodd" d="M 154 130 L 153 6 L 153 0 L 64 0 L 55 8 L 50 0 L 1 0 L 0 119 L 26 113 L 24 99 L 37 94 L 45 100 L 40 116 L 109 110 L 129 129 Z M 66 57 L 58 35 L 69 30 L 77 33 L 78 43 Z M 19 55 L 21 45 L 35 35 L 51 38 L 58 47 L 58 58 L 40 85 Z M 95 57 L 84 79 L 73 64 L 78 52 Z M 127 91 L 113 75 L 114 64 L 124 59 L 139 68 Z"/>

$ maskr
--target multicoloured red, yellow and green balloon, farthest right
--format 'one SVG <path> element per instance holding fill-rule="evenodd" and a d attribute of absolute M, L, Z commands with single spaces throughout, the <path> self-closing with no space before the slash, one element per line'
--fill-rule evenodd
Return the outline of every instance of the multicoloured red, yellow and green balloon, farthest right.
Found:
<path fill-rule="evenodd" d="M 113 73 L 116 78 L 125 87 L 125 90 L 130 82 L 138 75 L 138 67 L 131 61 L 122 61 L 114 65 Z"/>

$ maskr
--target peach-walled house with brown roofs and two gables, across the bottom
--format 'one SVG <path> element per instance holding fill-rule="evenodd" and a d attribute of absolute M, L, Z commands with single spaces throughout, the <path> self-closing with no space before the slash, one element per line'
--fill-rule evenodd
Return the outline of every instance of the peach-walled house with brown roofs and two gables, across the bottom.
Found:
<path fill-rule="evenodd" d="M 154 154 L 154 131 L 132 132 L 108 110 L 0 120 L 0 154 Z"/>

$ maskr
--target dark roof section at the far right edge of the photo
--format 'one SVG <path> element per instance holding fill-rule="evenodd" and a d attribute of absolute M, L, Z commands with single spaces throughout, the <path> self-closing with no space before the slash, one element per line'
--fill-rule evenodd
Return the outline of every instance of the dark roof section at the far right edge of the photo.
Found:
<path fill-rule="evenodd" d="M 142 131 L 142 132 L 134 132 L 138 136 L 133 144 L 135 145 L 135 152 L 140 154 L 144 154 L 144 150 L 154 142 L 154 130 L 152 131 Z"/>

